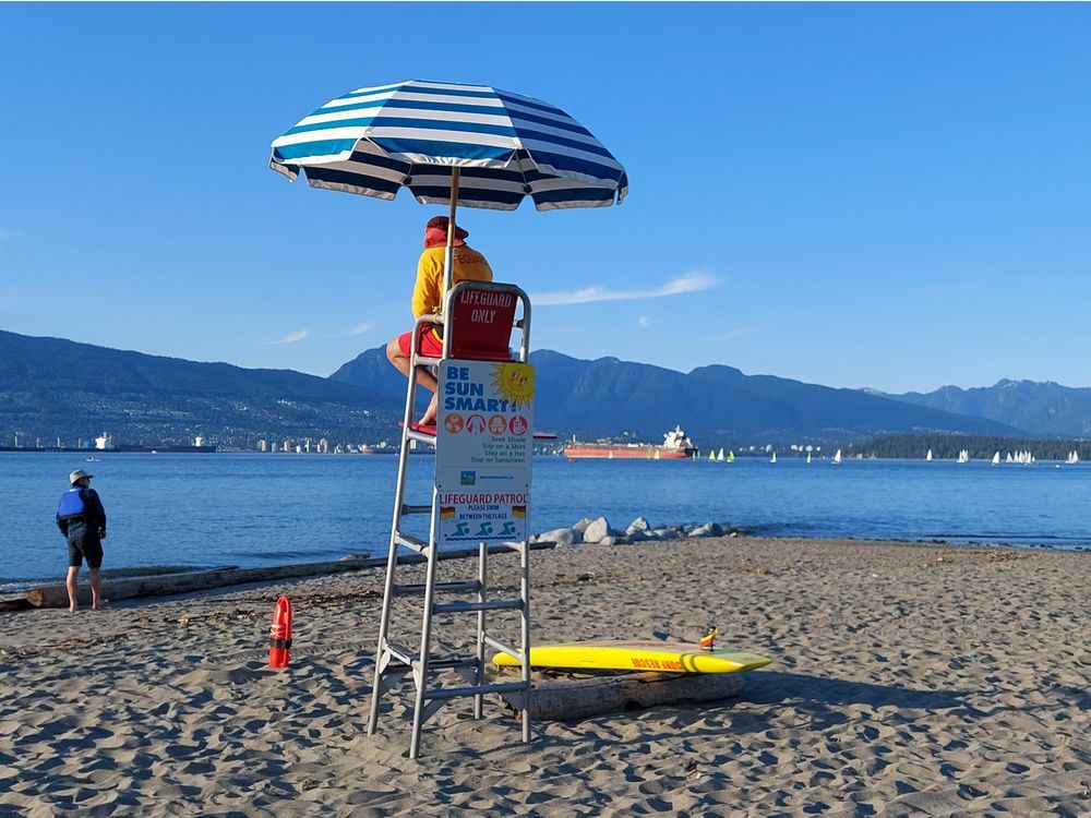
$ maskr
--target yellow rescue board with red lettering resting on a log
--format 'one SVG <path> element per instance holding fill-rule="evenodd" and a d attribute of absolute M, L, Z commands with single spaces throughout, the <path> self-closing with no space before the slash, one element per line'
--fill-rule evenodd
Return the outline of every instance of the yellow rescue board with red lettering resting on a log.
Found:
<path fill-rule="evenodd" d="M 518 665 L 508 653 L 492 658 L 497 666 Z M 657 641 L 595 641 L 537 645 L 530 648 L 531 667 L 597 671 L 659 671 L 666 673 L 735 673 L 764 667 L 772 660 L 757 653 L 700 650 L 694 645 Z"/>

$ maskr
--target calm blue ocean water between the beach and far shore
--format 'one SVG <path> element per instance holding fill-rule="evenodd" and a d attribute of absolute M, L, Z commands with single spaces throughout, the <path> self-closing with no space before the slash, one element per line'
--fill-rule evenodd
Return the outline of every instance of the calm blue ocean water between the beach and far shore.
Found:
<path fill-rule="evenodd" d="M 98 457 L 0 453 L 8 507 L 0 589 L 63 575 L 53 515 L 77 468 L 95 474 L 109 517 L 105 568 L 257 566 L 386 551 L 393 456 Z M 412 456 L 409 502 L 428 502 L 432 462 Z M 715 520 L 764 536 L 1091 548 L 1091 464 L 543 457 L 535 461 L 531 500 L 531 531 L 600 515 L 624 529 L 643 515 L 654 526 Z"/>

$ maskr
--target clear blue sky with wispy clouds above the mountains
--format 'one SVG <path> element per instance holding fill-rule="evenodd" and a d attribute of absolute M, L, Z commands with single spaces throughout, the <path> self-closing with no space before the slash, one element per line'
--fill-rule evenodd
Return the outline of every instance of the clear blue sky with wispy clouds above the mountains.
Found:
<path fill-rule="evenodd" d="M 289 184 L 268 144 L 448 80 L 628 171 L 621 207 L 463 212 L 535 347 L 1091 385 L 1088 5 L 0 4 L 0 43 L 3 329 L 320 375 L 385 342 L 442 208 Z"/>

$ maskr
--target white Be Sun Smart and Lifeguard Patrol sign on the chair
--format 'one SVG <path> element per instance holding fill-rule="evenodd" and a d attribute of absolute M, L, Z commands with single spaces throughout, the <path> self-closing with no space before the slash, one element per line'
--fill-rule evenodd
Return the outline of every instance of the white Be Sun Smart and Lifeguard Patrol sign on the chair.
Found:
<path fill-rule="evenodd" d="M 437 394 L 440 542 L 526 539 L 533 368 L 448 359 L 440 364 Z"/>

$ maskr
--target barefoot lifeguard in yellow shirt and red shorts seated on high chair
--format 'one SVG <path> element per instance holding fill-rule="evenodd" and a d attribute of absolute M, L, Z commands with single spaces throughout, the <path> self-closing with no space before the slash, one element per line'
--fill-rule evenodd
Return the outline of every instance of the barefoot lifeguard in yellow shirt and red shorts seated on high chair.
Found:
<path fill-rule="evenodd" d="M 447 246 L 446 216 L 435 216 L 424 226 L 424 252 L 417 262 L 417 282 L 412 290 L 412 315 L 439 315 L 443 312 L 443 257 Z M 491 281 L 492 268 L 489 262 L 478 251 L 466 243 L 469 232 L 455 225 L 454 252 L 452 266 L 454 276 L 452 286 L 459 281 Z M 429 358 L 443 357 L 443 327 L 433 325 L 421 337 L 421 354 Z M 386 357 L 394 368 L 406 377 L 409 376 L 409 356 L 412 351 L 412 330 L 399 335 L 386 345 Z M 417 383 L 432 393 L 432 401 L 428 411 L 419 421 L 419 425 L 430 426 L 435 423 L 435 389 L 436 381 L 428 370 L 417 371 Z"/>

